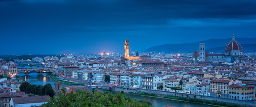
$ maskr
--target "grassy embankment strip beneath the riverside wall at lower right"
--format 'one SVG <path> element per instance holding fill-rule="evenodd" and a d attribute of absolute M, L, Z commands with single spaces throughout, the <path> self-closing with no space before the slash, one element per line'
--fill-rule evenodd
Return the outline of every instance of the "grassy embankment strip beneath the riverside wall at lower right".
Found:
<path fill-rule="evenodd" d="M 139 92 L 139 93 L 129 92 L 129 94 L 161 98 L 161 99 L 170 99 L 170 100 L 183 101 L 183 102 L 201 103 L 201 104 L 217 106 L 217 107 L 247 107 L 247 106 L 236 105 L 236 104 L 232 104 L 232 103 L 217 102 L 217 101 L 212 101 L 212 100 L 186 98 L 186 97 L 171 96 L 171 95 L 156 95 L 156 94 L 152 94 L 152 93 L 149 94 L 149 93 L 145 93 L 145 92 Z"/>

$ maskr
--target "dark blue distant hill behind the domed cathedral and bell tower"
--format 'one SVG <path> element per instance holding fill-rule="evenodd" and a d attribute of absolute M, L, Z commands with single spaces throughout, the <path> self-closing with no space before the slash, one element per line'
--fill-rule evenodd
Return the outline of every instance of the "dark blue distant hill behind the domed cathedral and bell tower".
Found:
<path fill-rule="evenodd" d="M 236 41 L 242 46 L 244 52 L 256 51 L 256 37 L 255 38 L 235 38 Z M 231 38 L 227 39 L 209 39 L 205 42 L 205 49 L 208 52 L 224 52 L 226 45 L 231 41 Z M 199 50 L 199 42 L 195 43 L 183 43 L 183 44 L 165 44 L 156 45 L 144 50 L 144 52 L 165 52 L 165 53 L 193 53 L 195 48 Z"/>

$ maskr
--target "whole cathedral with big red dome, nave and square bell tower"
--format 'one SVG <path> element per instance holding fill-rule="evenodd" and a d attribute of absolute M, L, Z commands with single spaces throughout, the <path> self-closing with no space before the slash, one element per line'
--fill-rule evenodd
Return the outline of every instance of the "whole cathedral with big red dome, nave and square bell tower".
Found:
<path fill-rule="evenodd" d="M 226 45 L 225 53 L 209 53 L 205 52 L 205 43 L 199 43 L 199 52 L 195 50 L 193 53 L 195 62 L 243 62 L 243 49 L 241 45 L 235 41 L 233 34 L 232 40 Z"/>

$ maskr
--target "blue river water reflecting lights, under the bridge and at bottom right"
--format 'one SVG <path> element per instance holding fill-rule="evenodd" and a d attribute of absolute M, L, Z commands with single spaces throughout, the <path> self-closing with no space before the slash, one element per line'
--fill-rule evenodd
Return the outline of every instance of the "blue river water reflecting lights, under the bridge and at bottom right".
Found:
<path fill-rule="evenodd" d="M 22 76 L 23 75 L 23 76 Z M 50 83 L 51 86 L 54 86 L 55 80 L 47 77 L 46 75 L 37 75 L 37 74 L 29 74 L 28 76 L 25 76 L 25 74 L 19 74 L 20 78 L 26 78 L 26 81 L 31 82 L 31 84 L 36 85 L 45 85 L 47 83 Z M 69 84 L 61 83 L 62 86 L 70 86 Z M 137 98 L 137 100 L 148 100 L 150 103 L 152 103 L 155 107 L 164 107 L 166 105 L 174 106 L 174 107 L 214 107 L 209 106 L 205 104 L 200 103 L 190 103 L 190 102 L 183 102 L 183 101 L 175 101 L 170 99 L 161 99 L 161 98 L 154 98 L 154 97 L 146 97 L 141 95 L 132 95 L 129 93 L 125 93 L 127 97 L 130 97 L 131 99 Z"/>

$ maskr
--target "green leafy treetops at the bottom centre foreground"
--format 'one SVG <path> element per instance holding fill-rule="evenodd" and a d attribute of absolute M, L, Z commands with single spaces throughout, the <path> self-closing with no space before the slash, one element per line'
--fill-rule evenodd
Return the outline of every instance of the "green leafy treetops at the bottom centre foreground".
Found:
<path fill-rule="evenodd" d="M 43 104 L 41 107 L 153 107 L 145 100 L 138 102 L 137 99 L 126 99 L 124 94 L 117 92 L 90 92 L 80 91 L 65 94 L 65 89 L 60 93 L 58 99 L 55 97 Z"/>

